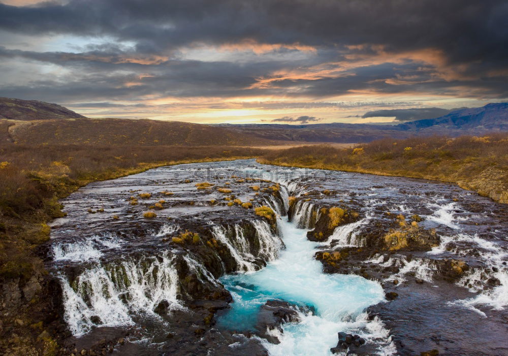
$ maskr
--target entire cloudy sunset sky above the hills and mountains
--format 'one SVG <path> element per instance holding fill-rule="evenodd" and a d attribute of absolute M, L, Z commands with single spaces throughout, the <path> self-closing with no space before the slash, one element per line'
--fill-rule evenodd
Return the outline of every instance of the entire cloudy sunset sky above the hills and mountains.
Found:
<path fill-rule="evenodd" d="M 0 96 L 88 117 L 401 122 L 508 101 L 508 2 L 0 0 Z"/>

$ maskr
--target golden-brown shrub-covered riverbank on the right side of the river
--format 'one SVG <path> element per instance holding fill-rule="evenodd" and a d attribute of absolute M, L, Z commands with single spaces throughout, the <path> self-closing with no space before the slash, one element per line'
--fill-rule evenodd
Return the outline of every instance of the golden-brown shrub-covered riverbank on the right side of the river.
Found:
<path fill-rule="evenodd" d="M 260 163 L 453 182 L 508 203 L 508 134 L 384 139 L 354 148 L 329 145 L 271 151 Z"/>

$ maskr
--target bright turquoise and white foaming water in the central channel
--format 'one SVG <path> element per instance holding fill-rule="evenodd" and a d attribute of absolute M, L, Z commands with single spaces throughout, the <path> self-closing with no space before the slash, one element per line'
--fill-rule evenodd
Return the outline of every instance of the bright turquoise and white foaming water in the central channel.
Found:
<path fill-rule="evenodd" d="M 315 308 L 315 315 L 284 325 L 281 343 L 265 346 L 272 355 L 330 354 L 330 347 L 337 344 L 337 332 L 368 323 L 362 311 L 384 299 L 383 288 L 359 276 L 324 274 L 321 262 L 313 258 L 316 244 L 307 240 L 307 230 L 282 219 L 278 224 L 286 248 L 277 260 L 257 272 L 221 278 L 234 303 L 217 325 L 252 329 L 260 306 L 270 299 L 306 304 Z"/>

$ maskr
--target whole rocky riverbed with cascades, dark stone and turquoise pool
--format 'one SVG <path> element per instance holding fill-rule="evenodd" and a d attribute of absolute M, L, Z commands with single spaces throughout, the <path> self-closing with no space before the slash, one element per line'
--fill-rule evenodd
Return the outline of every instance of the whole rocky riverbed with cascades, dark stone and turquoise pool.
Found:
<path fill-rule="evenodd" d="M 456 186 L 238 160 L 61 203 L 62 354 L 508 352 L 508 213 Z"/>

